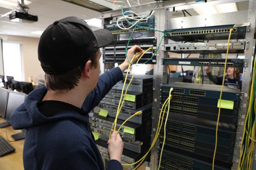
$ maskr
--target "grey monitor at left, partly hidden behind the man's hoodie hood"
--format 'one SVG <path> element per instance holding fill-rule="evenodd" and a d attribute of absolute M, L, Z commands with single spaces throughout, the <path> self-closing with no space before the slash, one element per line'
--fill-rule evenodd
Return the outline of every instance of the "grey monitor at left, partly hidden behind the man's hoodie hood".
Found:
<path fill-rule="evenodd" d="M 26 94 L 16 91 L 9 91 L 5 116 L 6 120 L 10 121 L 12 112 L 24 102 L 25 98 Z"/>

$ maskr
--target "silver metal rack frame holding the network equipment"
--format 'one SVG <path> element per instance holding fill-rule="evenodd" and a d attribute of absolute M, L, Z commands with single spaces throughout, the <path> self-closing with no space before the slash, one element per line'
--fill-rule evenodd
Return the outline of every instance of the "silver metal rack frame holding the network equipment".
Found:
<path fill-rule="evenodd" d="M 224 3 L 234 3 L 234 2 L 242 2 L 242 1 L 248 1 L 248 0 L 208 0 L 207 3 L 211 5 L 218 5 L 218 4 L 224 4 Z M 172 1 L 160 1 L 160 2 L 152 2 L 152 3 L 146 3 L 143 5 L 137 5 L 130 7 L 129 9 L 134 12 L 142 12 L 142 11 L 150 11 L 155 10 L 155 18 L 156 18 L 156 28 L 157 30 L 165 30 L 169 29 L 172 25 L 169 22 L 169 12 L 170 11 L 178 11 L 178 10 L 184 10 L 189 8 L 196 8 L 200 7 L 201 3 L 195 3 L 195 0 L 191 0 L 189 2 L 180 3 L 180 0 L 172 0 Z M 239 165 L 239 156 L 240 156 L 240 146 L 241 146 L 241 138 L 242 133 L 244 130 L 244 121 L 247 113 L 247 101 L 248 101 L 248 92 L 250 88 L 250 81 L 251 81 L 251 65 L 254 55 L 254 45 L 255 40 L 253 39 L 253 36 L 255 34 L 255 28 L 256 28 L 256 0 L 249 0 L 249 8 L 247 14 L 239 14 L 241 11 L 237 12 L 237 15 L 240 17 L 247 16 L 246 22 L 250 22 L 250 26 L 247 27 L 246 32 L 246 38 L 245 41 L 247 43 L 247 48 L 244 51 L 245 59 L 244 59 L 244 70 L 243 70 L 243 82 L 242 82 L 242 89 L 241 89 L 241 104 L 239 109 L 239 123 L 237 125 L 237 134 L 236 134 L 236 144 L 234 148 L 234 154 L 233 154 L 233 167 L 232 170 L 237 170 Z M 234 13 L 235 14 L 235 13 Z M 102 12 L 100 14 L 100 17 L 102 18 L 102 23 L 104 23 L 104 18 L 108 17 L 115 17 L 120 16 L 121 11 L 120 10 L 113 10 L 113 11 L 106 11 Z M 235 18 L 232 17 L 233 14 L 230 13 L 223 13 L 219 14 L 223 16 L 223 20 L 227 22 L 233 22 L 243 20 L 243 18 Z M 196 16 L 198 18 L 201 18 L 201 21 L 205 20 L 205 26 L 207 21 L 207 16 Z M 232 18 L 231 18 L 232 17 Z M 235 19 L 234 19 L 235 18 Z M 186 17 L 183 20 L 183 26 L 186 27 L 186 21 L 188 21 L 190 17 Z M 214 20 L 214 17 L 211 18 L 211 20 Z M 225 21 L 221 21 L 220 19 L 214 20 L 214 24 L 224 25 Z M 198 23 L 199 24 L 199 23 Z M 201 26 L 201 25 L 200 25 Z M 195 27 L 195 26 L 191 26 Z M 162 37 L 163 33 L 155 32 L 155 37 L 157 37 L 157 44 L 159 44 L 159 41 Z M 152 111 L 152 136 L 155 135 L 156 127 L 158 123 L 159 118 L 159 111 L 160 111 L 160 84 L 166 84 L 166 65 L 162 65 L 161 60 L 163 58 L 167 57 L 167 52 L 164 50 L 164 44 L 167 43 L 167 38 L 164 38 L 163 42 L 161 43 L 161 47 L 157 52 L 157 64 L 154 65 L 154 84 L 153 84 L 153 111 Z M 107 65 L 106 65 L 107 66 Z M 102 71 L 104 68 L 102 68 Z M 155 146 L 151 150 L 151 159 L 150 159 L 150 167 L 152 170 L 157 169 L 157 146 L 158 143 L 155 144 Z M 254 152 L 255 159 L 253 161 L 254 169 L 256 169 L 256 151 Z"/>

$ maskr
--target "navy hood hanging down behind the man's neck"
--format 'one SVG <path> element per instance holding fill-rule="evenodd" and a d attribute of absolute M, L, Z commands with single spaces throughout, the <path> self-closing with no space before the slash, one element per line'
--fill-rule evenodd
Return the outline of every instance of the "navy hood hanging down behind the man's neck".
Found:
<path fill-rule="evenodd" d="M 41 102 L 47 92 L 45 86 L 32 91 L 12 113 L 10 122 L 13 129 L 27 129 L 28 127 L 41 125 L 47 122 L 57 121 L 59 119 L 76 119 L 84 123 L 89 123 L 89 116 L 82 116 L 76 111 L 64 111 L 51 117 L 44 116 L 38 110 L 38 102 Z"/>

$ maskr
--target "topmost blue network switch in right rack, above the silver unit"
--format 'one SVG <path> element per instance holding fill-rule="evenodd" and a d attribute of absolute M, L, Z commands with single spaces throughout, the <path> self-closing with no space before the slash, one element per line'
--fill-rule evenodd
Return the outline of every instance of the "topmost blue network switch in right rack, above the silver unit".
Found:
<path fill-rule="evenodd" d="M 193 41 L 193 40 L 227 40 L 230 28 L 234 25 L 207 26 L 197 28 L 182 28 L 165 30 L 169 34 L 166 36 L 174 41 Z M 244 39 L 246 26 L 233 28 L 231 39 Z"/>

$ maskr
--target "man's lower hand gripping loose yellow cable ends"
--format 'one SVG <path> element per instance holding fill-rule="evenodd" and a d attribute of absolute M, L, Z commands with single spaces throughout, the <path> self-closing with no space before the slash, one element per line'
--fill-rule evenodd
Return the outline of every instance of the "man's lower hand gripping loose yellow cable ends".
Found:
<path fill-rule="evenodd" d="M 111 139 L 108 140 L 108 155 L 109 159 L 115 159 L 121 163 L 122 160 L 122 150 L 124 148 L 124 143 L 116 131 L 111 134 Z"/>

